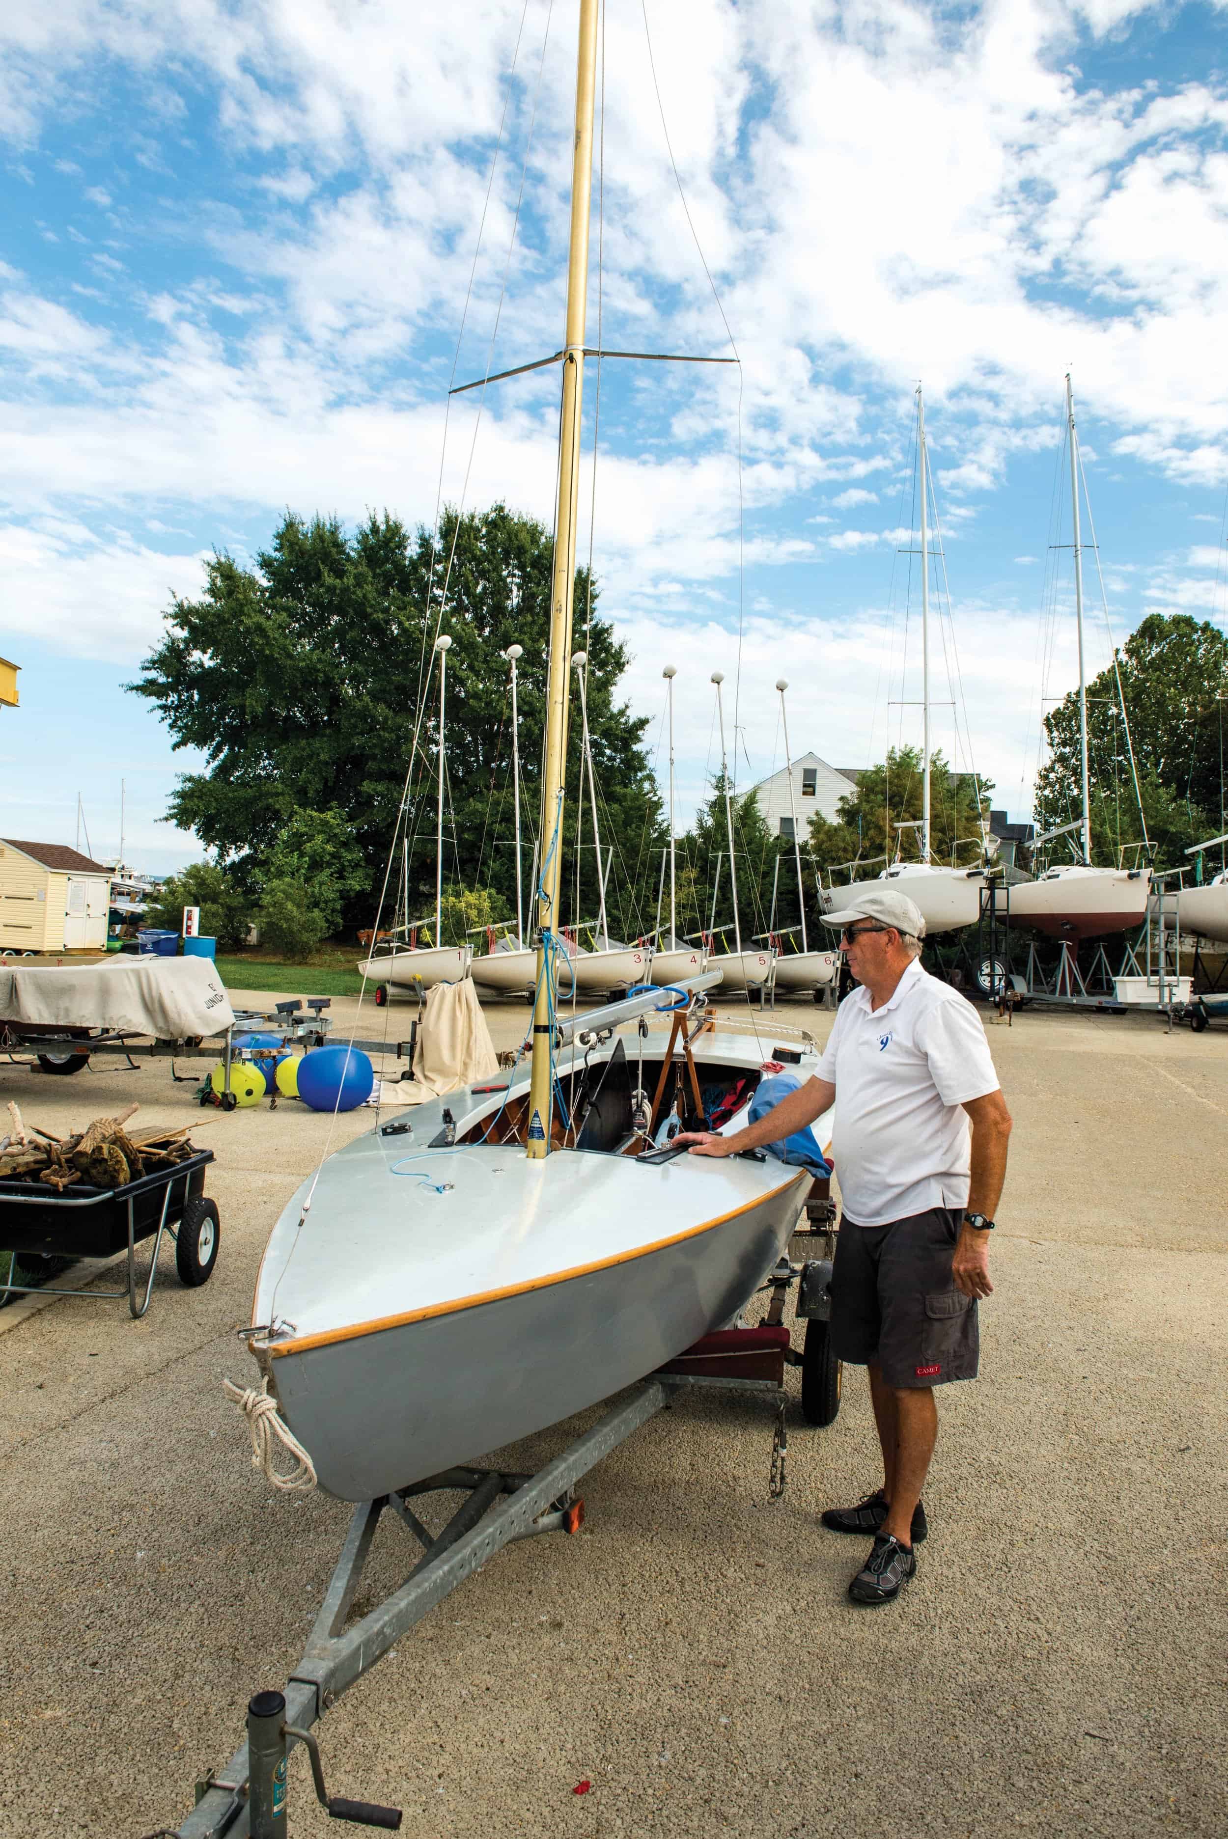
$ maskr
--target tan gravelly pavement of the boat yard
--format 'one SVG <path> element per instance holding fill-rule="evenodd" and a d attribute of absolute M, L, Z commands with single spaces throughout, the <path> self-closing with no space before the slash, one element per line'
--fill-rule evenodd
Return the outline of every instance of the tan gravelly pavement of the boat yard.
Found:
<path fill-rule="evenodd" d="M 526 1008 L 489 1013 L 520 1039 Z M 333 1793 L 403 1804 L 410 1839 L 1228 1830 L 1228 1034 L 1029 1010 L 989 1041 L 1015 1138 L 984 1377 L 939 1394 L 899 1604 L 851 1607 L 862 1545 L 816 1525 L 875 1482 L 860 1372 L 831 1429 L 796 1414 L 779 1502 L 770 1411 L 688 1398 L 586 1479 L 579 1537 L 500 1552 L 325 1718 Z M 165 1063 L 6 1065 L 0 1087 L 48 1129 L 140 1098 L 217 1151 L 204 1289 L 164 1252 L 142 1322 L 0 1313 L 0 1833 L 140 1839 L 285 1683 L 349 1517 L 274 1495 L 221 1390 L 250 1374 L 235 1330 L 329 1122 L 199 1113 Z M 371 1591 L 404 1539 L 381 1528 Z M 290 1791 L 292 1835 L 338 1832 L 301 1754 Z"/>

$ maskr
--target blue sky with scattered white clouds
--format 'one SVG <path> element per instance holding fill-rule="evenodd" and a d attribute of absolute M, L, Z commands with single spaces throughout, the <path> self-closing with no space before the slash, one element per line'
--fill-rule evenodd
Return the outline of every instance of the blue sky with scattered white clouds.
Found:
<path fill-rule="evenodd" d="M 125 690 L 287 508 L 553 515 L 574 0 L 40 0 L 0 15 L 6 833 L 167 872 L 175 754 Z M 1075 682 L 1070 370 L 1112 636 L 1224 622 L 1228 6 L 607 0 L 585 520 L 678 791 L 921 730 L 1026 817 Z M 592 478 L 596 436 L 596 489 Z M 592 508 L 592 517 L 590 517 Z M 1085 541 L 1088 528 L 1083 530 Z M 1088 669 L 1109 658 L 1088 555 Z M 947 592 L 949 590 L 949 592 Z M 77 800 L 85 815 L 79 831 Z"/>

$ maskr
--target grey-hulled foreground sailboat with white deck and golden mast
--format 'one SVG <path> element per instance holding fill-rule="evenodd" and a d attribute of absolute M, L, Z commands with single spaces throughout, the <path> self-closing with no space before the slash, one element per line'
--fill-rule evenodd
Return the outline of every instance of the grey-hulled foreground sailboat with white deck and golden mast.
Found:
<path fill-rule="evenodd" d="M 320 1484 L 349 1501 L 557 1423 L 728 1322 L 811 1186 L 772 1157 L 653 1149 L 665 1103 L 700 1076 L 704 1098 L 743 1105 L 722 1129 L 745 1125 L 761 1048 L 691 1032 L 697 984 L 717 973 L 654 1045 L 618 1026 L 673 1006 L 665 991 L 557 1013 L 596 48 L 597 0 L 579 0 L 531 1067 L 506 1091 L 449 1094 L 447 1118 L 419 1107 L 412 1137 L 377 1124 L 329 1157 L 274 1227 L 246 1337 Z M 807 1046 L 800 1078 L 816 1067 Z M 640 1091 L 658 1094 L 649 1116 Z"/>

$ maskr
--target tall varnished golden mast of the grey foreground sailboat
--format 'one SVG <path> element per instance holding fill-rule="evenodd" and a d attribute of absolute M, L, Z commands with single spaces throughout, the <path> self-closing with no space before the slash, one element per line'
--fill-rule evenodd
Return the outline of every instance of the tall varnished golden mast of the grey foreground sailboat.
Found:
<path fill-rule="evenodd" d="M 585 309 L 588 302 L 588 206 L 592 193 L 592 116 L 597 83 L 597 0 L 579 0 L 575 57 L 575 153 L 572 158 L 572 241 L 566 278 L 563 408 L 559 414 L 559 497 L 550 583 L 550 679 L 546 684 L 546 756 L 542 763 L 542 866 L 537 879 L 537 984 L 533 999 L 533 1070 L 526 1155 L 550 1155 L 553 953 L 544 934 L 559 931 L 563 868 L 563 794 L 568 714 L 568 657 L 575 600 L 575 506 L 579 497 L 579 430 L 585 379 Z M 599 864 L 597 864 L 599 866 Z M 539 1135 L 540 1133 L 540 1135 Z"/>

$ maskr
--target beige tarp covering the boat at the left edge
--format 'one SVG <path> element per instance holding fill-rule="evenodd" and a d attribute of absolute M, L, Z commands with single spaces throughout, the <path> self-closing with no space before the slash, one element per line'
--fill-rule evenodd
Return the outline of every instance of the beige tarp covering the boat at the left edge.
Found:
<path fill-rule="evenodd" d="M 107 1028 L 184 1041 L 224 1034 L 235 1019 L 208 958 L 108 958 L 0 971 L 0 1021 Z"/>

